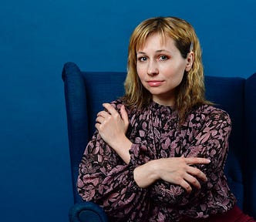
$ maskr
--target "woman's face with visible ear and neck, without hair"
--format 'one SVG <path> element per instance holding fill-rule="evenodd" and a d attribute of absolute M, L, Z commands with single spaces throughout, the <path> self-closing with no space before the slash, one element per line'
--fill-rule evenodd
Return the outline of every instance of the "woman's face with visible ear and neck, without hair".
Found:
<path fill-rule="evenodd" d="M 164 106 L 175 104 L 176 89 L 194 61 L 194 52 L 184 59 L 173 39 L 160 34 L 150 35 L 136 52 L 136 71 L 143 86 L 152 94 L 153 101 Z"/>

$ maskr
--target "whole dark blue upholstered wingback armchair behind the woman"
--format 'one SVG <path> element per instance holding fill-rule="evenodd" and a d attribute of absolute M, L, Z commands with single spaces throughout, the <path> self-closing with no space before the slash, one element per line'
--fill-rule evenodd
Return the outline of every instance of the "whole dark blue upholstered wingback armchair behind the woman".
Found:
<path fill-rule="evenodd" d="M 98 205 L 81 200 L 76 190 L 79 162 L 93 136 L 96 113 L 102 103 L 123 95 L 126 72 L 81 72 L 73 62 L 62 69 L 74 205 L 69 210 L 72 222 L 108 221 Z M 256 217 L 256 73 L 240 77 L 205 77 L 206 96 L 232 119 L 230 152 L 225 173 L 237 204 Z"/>

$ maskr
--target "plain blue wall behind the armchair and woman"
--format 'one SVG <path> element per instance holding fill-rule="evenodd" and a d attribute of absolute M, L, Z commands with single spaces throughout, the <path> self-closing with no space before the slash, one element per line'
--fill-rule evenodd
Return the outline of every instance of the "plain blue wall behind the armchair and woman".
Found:
<path fill-rule="evenodd" d="M 255 9 L 254 0 L 1 1 L 0 220 L 68 220 L 64 62 L 125 71 L 135 26 L 175 15 L 197 30 L 207 75 L 248 77 L 256 72 Z"/>

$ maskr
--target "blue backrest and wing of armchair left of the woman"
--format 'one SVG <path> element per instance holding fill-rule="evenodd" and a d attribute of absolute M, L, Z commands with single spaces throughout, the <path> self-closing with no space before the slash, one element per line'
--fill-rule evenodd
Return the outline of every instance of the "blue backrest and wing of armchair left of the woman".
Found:
<path fill-rule="evenodd" d="M 76 190 L 78 167 L 95 131 L 96 114 L 103 109 L 103 103 L 123 95 L 125 78 L 125 72 L 81 72 L 73 62 L 67 62 L 62 69 L 75 203 L 81 201 Z"/>

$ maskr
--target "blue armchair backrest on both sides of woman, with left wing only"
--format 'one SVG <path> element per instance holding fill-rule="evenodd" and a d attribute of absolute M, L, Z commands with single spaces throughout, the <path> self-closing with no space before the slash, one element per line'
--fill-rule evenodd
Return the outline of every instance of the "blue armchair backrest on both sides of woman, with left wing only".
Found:
<path fill-rule="evenodd" d="M 75 63 L 64 65 L 62 79 L 65 83 L 66 113 L 69 132 L 69 149 L 72 167 L 74 201 L 80 197 L 76 191 L 79 162 L 88 140 L 95 130 L 96 113 L 102 103 L 123 96 L 126 72 L 81 72 Z M 241 174 L 241 150 L 244 143 L 244 79 L 230 77 L 205 77 L 207 99 L 226 110 L 232 119 L 230 155 L 225 171 L 231 190 L 243 207 L 244 187 Z"/>

